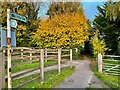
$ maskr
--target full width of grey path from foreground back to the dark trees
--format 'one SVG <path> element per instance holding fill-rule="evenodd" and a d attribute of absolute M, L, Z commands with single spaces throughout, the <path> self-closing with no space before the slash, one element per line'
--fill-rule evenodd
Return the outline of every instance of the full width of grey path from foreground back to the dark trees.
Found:
<path fill-rule="evenodd" d="M 90 69 L 90 58 L 83 56 L 84 60 L 76 61 L 75 73 L 67 77 L 64 82 L 55 88 L 108 88 Z"/>

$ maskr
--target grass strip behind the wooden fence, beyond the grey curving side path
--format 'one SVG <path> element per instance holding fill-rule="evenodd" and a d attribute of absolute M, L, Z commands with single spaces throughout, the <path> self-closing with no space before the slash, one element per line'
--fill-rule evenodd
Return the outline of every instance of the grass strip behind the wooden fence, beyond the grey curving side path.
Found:
<path fill-rule="evenodd" d="M 49 60 L 48 62 L 44 62 L 45 67 L 50 66 L 50 65 L 54 65 L 54 64 L 57 64 L 57 61 Z M 16 72 L 26 70 L 26 69 L 38 68 L 38 67 L 40 67 L 40 62 L 22 64 L 22 65 L 18 65 L 18 66 L 13 67 L 12 73 L 16 73 Z"/>

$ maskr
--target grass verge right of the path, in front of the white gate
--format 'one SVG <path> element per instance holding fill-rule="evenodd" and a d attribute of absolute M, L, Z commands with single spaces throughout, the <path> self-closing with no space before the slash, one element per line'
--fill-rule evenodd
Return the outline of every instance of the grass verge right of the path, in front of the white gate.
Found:
<path fill-rule="evenodd" d="M 91 61 L 93 63 L 94 61 Z M 99 73 L 96 65 L 91 65 L 94 74 L 101 80 L 105 85 L 110 88 L 120 88 L 120 76 L 107 75 Z"/>

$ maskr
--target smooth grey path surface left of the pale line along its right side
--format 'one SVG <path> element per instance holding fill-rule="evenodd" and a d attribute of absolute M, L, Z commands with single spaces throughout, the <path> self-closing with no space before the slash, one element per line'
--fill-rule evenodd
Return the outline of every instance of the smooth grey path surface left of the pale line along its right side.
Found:
<path fill-rule="evenodd" d="M 90 61 L 88 60 L 78 61 L 75 73 L 70 75 L 55 88 L 86 88 L 93 75 L 89 64 Z"/>

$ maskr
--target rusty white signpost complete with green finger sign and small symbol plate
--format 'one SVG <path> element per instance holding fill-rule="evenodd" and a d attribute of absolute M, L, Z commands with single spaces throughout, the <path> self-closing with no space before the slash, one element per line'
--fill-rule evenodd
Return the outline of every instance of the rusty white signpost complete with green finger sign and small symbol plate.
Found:
<path fill-rule="evenodd" d="M 7 74 L 8 74 L 8 88 L 12 88 L 12 72 L 11 72 L 11 45 L 12 45 L 11 42 L 12 41 L 11 41 L 11 38 L 13 39 L 13 42 L 16 42 L 16 39 L 14 38 L 15 33 L 11 32 L 10 26 L 13 27 L 13 28 L 17 27 L 17 21 L 16 20 L 10 20 L 10 18 L 17 19 L 17 20 L 20 20 L 20 21 L 23 21 L 23 22 L 27 21 L 26 17 L 15 14 L 15 13 L 10 13 L 10 9 L 7 9 L 7 61 L 8 61 L 8 64 L 7 64 L 8 65 L 7 66 L 7 72 L 8 73 Z M 5 34 L 3 36 L 5 36 Z M 3 45 L 3 46 L 6 46 L 6 43 L 4 43 L 4 44 L 5 45 Z M 16 43 L 14 45 L 16 46 Z"/>

